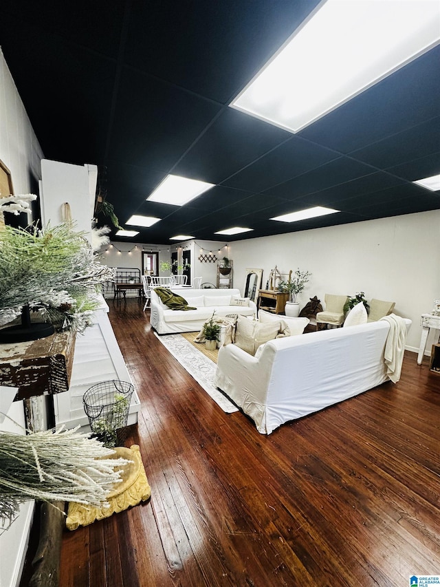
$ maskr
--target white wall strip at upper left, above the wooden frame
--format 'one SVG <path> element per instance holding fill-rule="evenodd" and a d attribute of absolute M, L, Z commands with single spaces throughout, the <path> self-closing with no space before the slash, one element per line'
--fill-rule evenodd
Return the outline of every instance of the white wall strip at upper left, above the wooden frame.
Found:
<path fill-rule="evenodd" d="M 11 172 L 16 195 L 37 193 L 42 158 L 43 151 L 0 49 L 0 159 Z"/>

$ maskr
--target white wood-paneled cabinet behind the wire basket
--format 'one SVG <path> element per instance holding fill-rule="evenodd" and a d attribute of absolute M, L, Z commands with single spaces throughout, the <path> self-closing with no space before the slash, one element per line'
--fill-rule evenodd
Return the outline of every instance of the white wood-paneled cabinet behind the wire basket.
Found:
<path fill-rule="evenodd" d="M 105 302 L 104 308 L 108 310 Z M 64 424 L 67 428 L 78 425 L 88 427 L 83 395 L 95 383 L 112 379 L 131 381 L 109 317 L 103 309 L 95 313 L 94 325 L 76 337 L 69 389 L 53 396 L 56 425 Z M 137 423 L 139 409 L 140 401 L 134 392 L 129 409 L 129 425 Z"/>

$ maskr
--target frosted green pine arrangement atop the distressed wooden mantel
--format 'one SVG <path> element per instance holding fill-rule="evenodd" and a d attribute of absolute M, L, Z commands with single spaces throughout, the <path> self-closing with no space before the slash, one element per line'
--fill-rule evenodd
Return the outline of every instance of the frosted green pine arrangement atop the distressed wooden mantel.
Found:
<path fill-rule="evenodd" d="M 0 325 L 29 305 L 61 329 L 84 330 L 98 306 L 98 286 L 114 278 L 114 270 L 97 261 L 83 234 L 69 224 L 44 231 L 5 226 L 0 257 Z"/>

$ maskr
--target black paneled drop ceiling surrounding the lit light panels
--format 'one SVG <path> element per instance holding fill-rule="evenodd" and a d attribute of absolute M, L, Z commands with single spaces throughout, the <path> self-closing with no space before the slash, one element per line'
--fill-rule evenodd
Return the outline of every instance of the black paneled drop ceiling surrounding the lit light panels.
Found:
<path fill-rule="evenodd" d="M 296 135 L 228 107 L 317 4 L 14 0 L 0 44 L 45 157 L 98 164 L 120 224 L 163 219 L 137 242 L 439 209 L 440 192 L 411 182 L 440 173 L 440 47 Z M 168 173 L 217 185 L 182 207 L 146 202 Z M 342 212 L 269 220 L 318 205 Z M 214 235 L 236 225 L 254 231 Z"/>

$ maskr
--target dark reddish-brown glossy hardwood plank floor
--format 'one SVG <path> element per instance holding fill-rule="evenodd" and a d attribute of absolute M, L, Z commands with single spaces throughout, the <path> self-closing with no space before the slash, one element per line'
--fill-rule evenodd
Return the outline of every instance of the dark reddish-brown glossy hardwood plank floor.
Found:
<path fill-rule="evenodd" d="M 397 385 L 263 436 L 168 354 L 142 303 L 109 304 L 142 403 L 126 445 L 140 445 L 152 494 L 65 531 L 62 587 L 406 587 L 440 573 L 440 376 L 427 359 L 406 352 Z"/>

